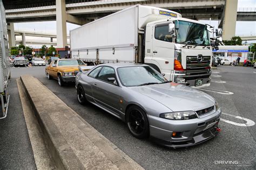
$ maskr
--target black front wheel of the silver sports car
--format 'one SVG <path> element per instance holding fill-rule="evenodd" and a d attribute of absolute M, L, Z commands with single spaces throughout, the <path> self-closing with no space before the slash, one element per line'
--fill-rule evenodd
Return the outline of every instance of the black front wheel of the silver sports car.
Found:
<path fill-rule="evenodd" d="M 149 121 L 146 113 L 136 105 L 132 105 L 126 112 L 126 124 L 132 135 L 142 139 L 149 136 Z"/>

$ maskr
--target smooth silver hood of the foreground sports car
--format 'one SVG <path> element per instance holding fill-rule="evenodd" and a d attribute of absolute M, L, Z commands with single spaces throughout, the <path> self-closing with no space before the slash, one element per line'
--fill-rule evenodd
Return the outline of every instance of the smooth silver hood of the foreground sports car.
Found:
<path fill-rule="evenodd" d="M 214 98 L 203 91 L 178 83 L 152 84 L 130 89 L 158 101 L 172 111 L 197 111 L 212 107 L 215 103 Z"/>

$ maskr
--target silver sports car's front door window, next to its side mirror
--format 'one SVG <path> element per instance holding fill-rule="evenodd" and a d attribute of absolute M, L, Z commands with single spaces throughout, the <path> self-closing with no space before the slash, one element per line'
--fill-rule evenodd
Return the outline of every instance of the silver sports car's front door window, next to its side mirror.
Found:
<path fill-rule="evenodd" d="M 108 78 L 114 79 L 109 80 Z M 116 74 L 114 74 L 114 69 L 112 67 L 103 67 L 103 69 L 100 70 L 97 79 L 114 84 L 114 81 L 116 81 Z"/>

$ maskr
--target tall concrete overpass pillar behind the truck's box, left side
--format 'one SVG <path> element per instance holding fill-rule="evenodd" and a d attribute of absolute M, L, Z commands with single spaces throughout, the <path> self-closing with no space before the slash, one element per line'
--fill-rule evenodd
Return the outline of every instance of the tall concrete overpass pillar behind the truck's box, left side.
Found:
<path fill-rule="evenodd" d="M 66 36 L 66 3 L 65 0 L 56 0 L 57 47 L 68 45 Z"/>

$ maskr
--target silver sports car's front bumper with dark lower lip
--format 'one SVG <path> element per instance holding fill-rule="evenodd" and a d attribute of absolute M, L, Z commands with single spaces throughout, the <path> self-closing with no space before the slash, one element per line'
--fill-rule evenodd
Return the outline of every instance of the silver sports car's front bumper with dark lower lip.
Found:
<path fill-rule="evenodd" d="M 187 147 L 203 143 L 217 136 L 221 110 L 214 114 L 185 121 L 172 121 L 148 115 L 150 136 L 153 141 L 167 147 Z M 177 132 L 172 137 L 172 132 Z"/>

